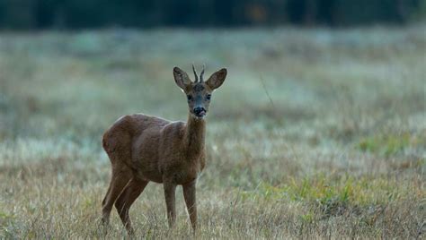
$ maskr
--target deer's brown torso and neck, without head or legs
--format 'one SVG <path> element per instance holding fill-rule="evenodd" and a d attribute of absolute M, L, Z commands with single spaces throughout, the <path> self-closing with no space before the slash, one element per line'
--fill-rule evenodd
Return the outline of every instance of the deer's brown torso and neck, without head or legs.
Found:
<path fill-rule="evenodd" d="M 123 163 L 142 180 L 161 184 L 168 177 L 165 180 L 174 184 L 187 184 L 204 168 L 206 131 L 204 120 L 190 116 L 188 123 L 143 114 L 123 116 L 104 134 L 103 147 L 109 155 L 123 157 L 128 153 L 117 149 L 129 150 L 130 158 L 123 158 Z"/>

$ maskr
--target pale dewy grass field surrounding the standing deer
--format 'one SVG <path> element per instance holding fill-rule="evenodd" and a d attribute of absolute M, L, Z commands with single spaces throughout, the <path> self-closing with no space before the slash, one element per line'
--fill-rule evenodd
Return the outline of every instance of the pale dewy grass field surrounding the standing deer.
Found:
<path fill-rule="evenodd" d="M 426 26 L 0 33 L 0 238 L 102 238 L 102 133 L 186 120 L 173 66 L 226 66 L 212 97 L 198 238 L 424 238 Z M 138 238 L 187 238 L 182 189 L 130 210 Z M 115 210 L 107 238 L 126 236 Z"/>

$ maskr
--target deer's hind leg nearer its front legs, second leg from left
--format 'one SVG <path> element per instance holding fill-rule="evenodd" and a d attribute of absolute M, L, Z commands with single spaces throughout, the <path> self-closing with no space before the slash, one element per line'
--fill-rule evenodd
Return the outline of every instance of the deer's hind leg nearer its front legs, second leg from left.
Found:
<path fill-rule="evenodd" d="M 119 199 L 115 201 L 115 208 L 119 212 L 121 222 L 128 231 L 129 236 L 134 234 L 133 227 L 129 218 L 129 209 L 133 202 L 136 201 L 140 193 L 142 193 L 148 184 L 147 181 L 139 180 L 133 177 L 124 191 L 120 194 Z"/>

